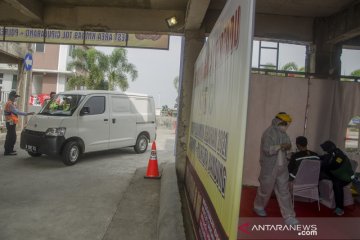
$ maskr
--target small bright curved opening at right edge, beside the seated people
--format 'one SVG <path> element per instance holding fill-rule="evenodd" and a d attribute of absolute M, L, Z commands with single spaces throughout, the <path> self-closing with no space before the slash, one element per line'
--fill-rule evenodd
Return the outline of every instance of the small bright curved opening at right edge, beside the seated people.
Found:
<path fill-rule="evenodd" d="M 359 152 L 360 116 L 350 120 L 346 129 L 345 150 L 346 152 Z"/>

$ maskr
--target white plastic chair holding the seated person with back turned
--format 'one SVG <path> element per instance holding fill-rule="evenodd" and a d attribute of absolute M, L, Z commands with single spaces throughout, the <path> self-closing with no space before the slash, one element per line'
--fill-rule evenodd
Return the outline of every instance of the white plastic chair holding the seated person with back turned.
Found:
<path fill-rule="evenodd" d="M 319 174 L 320 161 L 319 160 L 302 160 L 297 171 L 296 178 L 293 184 L 293 205 L 295 196 L 314 199 L 318 202 L 318 209 L 320 211 L 319 198 Z"/>

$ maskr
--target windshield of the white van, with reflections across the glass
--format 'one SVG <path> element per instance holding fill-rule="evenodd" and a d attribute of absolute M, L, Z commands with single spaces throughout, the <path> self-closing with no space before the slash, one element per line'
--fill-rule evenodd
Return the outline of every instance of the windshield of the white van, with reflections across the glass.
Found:
<path fill-rule="evenodd" d="M 45 103 L 39 114 L 52 116 L 71 116 L 83 98 L 83 95 L 55 95 L 52 99 Z"/>

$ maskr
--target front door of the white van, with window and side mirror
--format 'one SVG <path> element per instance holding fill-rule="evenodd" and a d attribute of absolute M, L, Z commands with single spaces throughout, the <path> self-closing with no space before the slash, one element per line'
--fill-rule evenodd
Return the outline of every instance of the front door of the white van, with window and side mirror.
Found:
<path fill-rule="evenodd" d="M 85 143 L 85 151 L 109 149 L 109 104 L 107 95 L 91 95 L 82 109 L 88 113 L 79 116 L 79 137 Z M 81 112 L 81 111 L 80 111 Z"/>

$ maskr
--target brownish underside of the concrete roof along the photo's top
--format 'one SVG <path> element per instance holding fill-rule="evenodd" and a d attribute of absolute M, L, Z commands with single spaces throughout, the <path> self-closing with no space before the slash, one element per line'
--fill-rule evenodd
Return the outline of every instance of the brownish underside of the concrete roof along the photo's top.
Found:
<path fill-rule="evenodd" d="M 170 34 L 203 29 L 209 33 L 225 3 L 226 0 L 1 0 L 0 25 Z M 317 18 L 346 10 L 359 11 L 357 3 L 357 0 L 257 0 L 255 36 L 310 41 Z M 174 28 L 165 22 L 171 16 L 176 16 L 179 22 Z"/>

